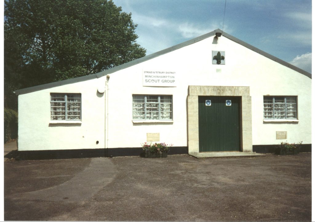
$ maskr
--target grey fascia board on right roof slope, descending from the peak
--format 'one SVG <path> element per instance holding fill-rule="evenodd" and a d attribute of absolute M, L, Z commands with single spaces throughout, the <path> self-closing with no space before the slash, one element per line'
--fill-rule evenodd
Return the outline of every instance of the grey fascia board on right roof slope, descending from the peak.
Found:
<path fill-rule="evenodd" d="M 301 73 L 301 74 L 303 74 L 303 75 L 309 77 L 310 79 L 312 79 L 312 74 L 309 73 L 309 72 L 306 72 L 306 71 L 303 70 L 303 69 L 300 69 L 300 68 L 298 68 L 298 67 L 296 67 L 296 66 L 294 66 L 294 65 L 292 65 L 292 64 L 290 64 L 290 63 L 288 63 L 288 62 L 285 62 L 285 61 L 283 61 L 283 60 L 281 60 L 281 59 L 279 59 L 279 58 L 277 58 L 277 57 L 274 57 L 274 56 L 268 54 L 268 53 L 265 52 L 265 51 L 262 51 L 262 50 L 260 50 L 260 49 L 258 49 L 258 48 L 256 48 L 256 47 L 254 47 L 254 46 L 252 46 L 252 45 L 249 45 L 248 43 L 246 43 L 246 42 L 244 42 L 244 41 L 242 41 L 242 40 L 240 40 L 240 39 L 238 39 L 238 38 L 235 38 L 235 37 L 232 36 L 232 35 L 229 35 L 229 34 L 227 34 L 227 33 L 222 33 L 222 35 L 225 36 L 226 38 L 232 40 L 232 41 L 237 42 L 238 44 L 241 44 L 242 46 L 245 46 L 246 48 L 249 48 L 250 50 L 253 50 L 253 51 L 255 51 L 255 52 L 261 54 L 262 56 L 265 56 L 265 57 L 267 57 L 267 58 L 269 58 L 269 59 L 271 59 L 271 60 L 273 60 L 273 61 L 275 61 L 275 62 L 280 63 L 281 65 L 284 65 L 284 66 L 286 66 L 286 67 L 288 67 L 288 68 L 291 68 L 291 69 L 295 70 L 296 72 L 299 72 L 299 73 Z"/>

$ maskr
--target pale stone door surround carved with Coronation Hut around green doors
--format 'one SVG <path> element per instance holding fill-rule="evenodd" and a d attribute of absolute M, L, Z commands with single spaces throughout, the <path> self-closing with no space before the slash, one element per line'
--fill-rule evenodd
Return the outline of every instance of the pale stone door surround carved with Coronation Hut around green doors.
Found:
<path fill-rule="evenodd" d="M 198 96 L 241 96 L 241 150 L 253 151 L 249 86 L 188 86 L 188 153 L 199 153 Z"/>

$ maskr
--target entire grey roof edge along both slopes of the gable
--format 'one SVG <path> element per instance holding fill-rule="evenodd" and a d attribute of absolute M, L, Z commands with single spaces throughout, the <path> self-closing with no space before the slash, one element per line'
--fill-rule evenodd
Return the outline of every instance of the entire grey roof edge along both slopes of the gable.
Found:
<path fill-rule="evenodd" d="M 61 86 L 61 85 L 66 85 L 66 84 L 71 84 L 71 83 L 76 83 L 76 82 L 82 82 L 82 81 L 85 81 L 85 80 L 89 80 L 89 79 L 95 79 L 95 78 L 100 78 L 102 76 L 105 76 L 107 74 L 111 74 L 111 73 L 114 73 L 114 72 L 117 72 L 118 70 L 121 70 L 121 69 L 125 69 L 125 68 L 128 68 L 130 66 L 133 66 L 133 65 L 136 65 L 138 63 L 141 63 L 141 62 L 145 62 L 149 59 L 152 59 L 152 58 L 155 58 L 155 57 L 158 57 L 158 56 L 161 56 L 163 54 L 166 54 L 168 52 L 171 52 L 171 51 L 174 51 L 176 49 L 179 49 L 179 48 L 182 48 L 182 47 L 185 47 L 185 46 L 188 46 L 190 44 L 193 44 L 195 42 L 198 42 L 198 41 L 201 41 L 203 39 L 206 39 L 206 38 L 209 38 L 213 35 L 215 35 L 215 33 L 222 33 L 222 35 L 232 41 L 235 41 L 237 42 L 238 44 L 241 44 L 242 46 L 245 46 L 246 48 L 249 48 L 250 50 L 253 50 L 269 59 L 272 59 L 273 61 L 275 62 L 278 62 L 280 63 L 281 65 L 284 65 L 286 67 L 289 67 L 303 75 L 306 75 L 307 77 L 311 78 L 312 79 L 312 74 L 311 73 L 308 73 L 306 71 L 304 71 L 303 69 L 300 69 L 300 68 L 297 68 L 296 66 L 294 65 L 291 65 L 290 63 L 288 62 L 285 62 L 277 57 L 274 57 L 252 45 L 249 45 L 248 43 L 242 41 L 242 40 L 239 40 L 238 38 L 235 38 L 234 36 L 232 35 L 229 35 L 225 32 L 222 32 L 220 29 L 216 29 L 212 32 L 209 32 L 207 34 L 204 34 L 204 35 L 201 35 L 199 37 L 196 37 L 194 39 L 191 39 L 191 40 L 188 40 L 186 42 L 183 42 L 183 43 L 180 43 L 178 45 L 175 45 L 175 46 L 171 46 L 167 49 L 164 49 L 164 50 L 161 50 L 161 51 L 158 51 L 156 53 L 153 53 L 153 54 L 150 54 L 150 55 L 147 55 L 145 57 L 141 57 L 139 59 L 136 59 L 136 60 L 133 60 L 133 61 L 130 61 L 130 62 L 127 62 L 127 63 L 124 63 L 122 65 L 119 65 L 119 66 L 116 66 L 116 67 L 113 67 L 113 68 L 110 68 L 110 69 L 107 69 L 107 70 L 104 70 L 100 73 L 96 73 L 96 74 L 90 74 L 90 75 L 86 75 L 86 76 L 81 76 L 81 77 L 77 77 L 77 78 L 73 78 L 73 79 L 66 79 L 66 80 L 62 80 L 62 81 L 58 81 L 58 82 L 53 82 L 53 83 L 48 83 L 48 84 L 43 84 L 43 85 L 38 85 L 38 86 L 33 86 L 33 87 L 29 87 L 29 88 L 25 88 L 25 89 L 19 89 L 19 90 L 16 90 L 15 91 L 15 94 L 16 95 L 20 95 L 20 94 L 25 94 L 25 93 L 30 93 L 30 92 L 34 92 L 34 91 L 38 91 L 38 90 L 41 90 L 41 89 L 49 89 L 49 88 L 53 88 L 53 87 L 56 87 L 56 86 Z"/>

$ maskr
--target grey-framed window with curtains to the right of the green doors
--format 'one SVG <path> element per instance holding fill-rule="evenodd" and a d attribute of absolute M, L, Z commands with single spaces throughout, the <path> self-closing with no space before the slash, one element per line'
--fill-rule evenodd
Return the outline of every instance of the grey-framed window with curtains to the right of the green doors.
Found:
<path fill-rule="evenodd" d="M 296 96 L 264 96 L 264 119 L 297 119 Z"/>

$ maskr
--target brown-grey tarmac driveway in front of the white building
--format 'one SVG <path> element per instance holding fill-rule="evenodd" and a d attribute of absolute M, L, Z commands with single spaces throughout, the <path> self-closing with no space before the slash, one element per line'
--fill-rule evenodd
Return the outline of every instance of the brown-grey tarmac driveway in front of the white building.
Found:
<path fill-rule="evenodd" d="M 311 153 L 4 162 L 5 220 L 311 221 Z"/>

